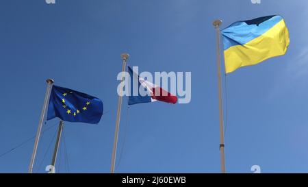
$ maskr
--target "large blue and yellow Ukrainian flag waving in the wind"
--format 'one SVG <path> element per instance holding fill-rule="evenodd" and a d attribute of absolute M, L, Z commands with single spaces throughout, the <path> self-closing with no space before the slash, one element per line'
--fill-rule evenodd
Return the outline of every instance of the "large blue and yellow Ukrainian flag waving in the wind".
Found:
<path fill-rule="evenodd" d="M 284 55 L 290 44 L 282 16 L 238 21 L 222 30 L 226 73 Z"/>

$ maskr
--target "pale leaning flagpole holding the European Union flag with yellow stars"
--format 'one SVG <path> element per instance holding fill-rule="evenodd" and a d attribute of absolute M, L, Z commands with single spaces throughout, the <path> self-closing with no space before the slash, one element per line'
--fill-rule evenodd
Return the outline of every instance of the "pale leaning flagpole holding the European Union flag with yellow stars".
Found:
<path fill-rule="evenodd" d="M 47 105 L 48 105 L 48 101 L 49 101 L 49 97 L 50 97 L 50 91 L 51 91 L 51 88 L 53 86 L 53 79 L 47 79 L 46 82 L 47 82 L 47 90 L 46 90 L 46 94 L 45 94 L 42 113 L 40 114 L 40 122 L 38 123 L 38 131 L 36 132 L 36 140 L 34 142 L 34 148 L 33 148 L 32 156 L 31 156 L 30 164 L 29 164 L 28 173 L 32 173 L 32 170 L 33 170 L 34 160 L 36 159 L 36 151 L 38 149 L 38 141 L 40 140 L 40 132 L 42 130 L 42 123 L 44 121 L 44 115 L 45 115 L 46 110 L 47 110 Z"/>

